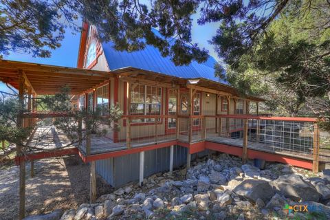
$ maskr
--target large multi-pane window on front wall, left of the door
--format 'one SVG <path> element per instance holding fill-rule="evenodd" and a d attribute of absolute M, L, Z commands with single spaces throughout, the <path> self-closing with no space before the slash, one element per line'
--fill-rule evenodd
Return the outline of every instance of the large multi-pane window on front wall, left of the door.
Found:
<path fill-rule="evenodd" d="M 162 89 L 148 85 L 137 85 L 131 91 L 132 115 L 160 115 Z M 132 122 L 153 122 L 153 118 L 132 120 Z"/>

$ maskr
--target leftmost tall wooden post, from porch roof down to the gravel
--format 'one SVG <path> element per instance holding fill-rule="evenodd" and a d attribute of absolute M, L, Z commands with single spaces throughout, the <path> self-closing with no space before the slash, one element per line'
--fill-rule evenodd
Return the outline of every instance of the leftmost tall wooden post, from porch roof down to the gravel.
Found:
<path fill-rule="evenodd" d="M 17 126 L 19 128 L 23 127 L 23 105 L 24 105 L 24 84 L 25 79 L 23 77 L 23 72 L 19 72 L 19 103 L 20 110 L 17 117 Z M 23 142 L 23 140 L 21 140 Z M 19 161 L 19 219 L 24 219 L 25 217 L 25 159 L 23 157 L 23 146 L 17 144 L 17 156 L 20 159 Z"/>

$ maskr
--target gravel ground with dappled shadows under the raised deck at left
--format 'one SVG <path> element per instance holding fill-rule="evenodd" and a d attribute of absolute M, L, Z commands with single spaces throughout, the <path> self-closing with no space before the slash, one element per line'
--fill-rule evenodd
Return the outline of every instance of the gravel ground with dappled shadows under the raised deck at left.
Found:
<path fill-rule="evenodd" d="M 61 208 L 76 208 L 89 201 L 89 166 L 76 156 L 41 159 L 26 166 L 26 216 Z M 112 191 L 98 177 L 98 195 Z M 19 167 L 0 168 L 0 219 L 17 219 Z"/>

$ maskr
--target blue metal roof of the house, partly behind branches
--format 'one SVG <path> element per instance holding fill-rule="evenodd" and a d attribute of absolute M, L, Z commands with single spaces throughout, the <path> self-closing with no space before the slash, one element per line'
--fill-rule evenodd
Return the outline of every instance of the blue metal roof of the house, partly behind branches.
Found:
<path fill-rule="evenodd" d="M 158 35 L 159 32 L 155 31 Z M 163 57 L 156 47 L 146 45 L 144 50 L 136 52 L 120 52 L 113 48 L 112 42 L 102 43 L 104 55 L 111 70 L 123 67 L 135 67 L 152 72 L 158 72 L 169 76 L 180 78 L 206 78 L 219 83 L 225 83 L 223 80 L 214 76 L 215 59 L 210 56 L 205 63 L 192 61 L 190 65 L 175 66 L 170 57 Z"/>

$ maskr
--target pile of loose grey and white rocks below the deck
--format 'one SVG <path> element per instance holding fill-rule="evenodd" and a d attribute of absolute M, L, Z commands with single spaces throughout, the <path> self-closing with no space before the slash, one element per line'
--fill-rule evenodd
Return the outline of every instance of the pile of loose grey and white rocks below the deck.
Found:
<path fill-rule="evenodd" d="M 158 173 L 102 195 L 97 203 L 77 209 L 56 210 L 52 219 L 307 219 L 307 212 L 288 214 L 286 205 L 309 204 L 330 219 L 330 172 L 283 164 L 266 164 L 264 170 L 241 164 L 238 157 L 222 154 L 193 162 L 187 172 Z M 185 175 L 186 174 L 186 175 Z M 310 213 L 309 213 L 310 214 Z M 287 216 L 289 215 L 289 216 Z M 45 218 L 43 218 L 45 217 Z M 27 219 L 50 219 L 47 215 Z"/>

